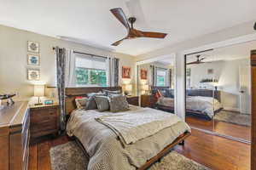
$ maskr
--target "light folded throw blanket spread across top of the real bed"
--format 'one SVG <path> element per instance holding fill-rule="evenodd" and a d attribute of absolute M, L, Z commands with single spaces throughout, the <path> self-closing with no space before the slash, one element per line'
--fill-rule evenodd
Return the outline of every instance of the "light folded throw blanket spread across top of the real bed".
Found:
<path fill-rule="evenodd" d="M 181 119 L 164 111 L 142 108 L 130 111 L 129 114 L 121 112 L 100 116 L 96 118 L 96 121 L 111 128 L 124 144 L 133 144 L 166 127 L 181 122 Z"/>

